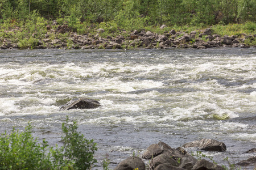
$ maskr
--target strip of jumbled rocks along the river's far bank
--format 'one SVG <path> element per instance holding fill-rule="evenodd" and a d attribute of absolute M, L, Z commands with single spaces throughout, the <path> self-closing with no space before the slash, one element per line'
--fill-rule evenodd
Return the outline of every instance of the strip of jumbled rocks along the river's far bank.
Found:
<path fill-rule="evenodd" d="M 54 23 L 54 22 L 53 22 Z M 55 23 L 56 24 L 56 23 Z M 164 28 L 164 25 L 162 25 Z M 161 29 L 162 29 L 161 28 Z M 36 39 L 30 42 L 28 48 L 32 49 L 134 49 L 134 48 L 255 48 L 254 42 L 256 35 L 240 35 L 220 36 L 213 33 L 211 28 L 197 30 L 191 32 L 164 31 L 162 35 L 150 31 L 127 32 L 123 29 L 119 30 L 118 36 L 107 36 L 105 30 L 100 28 L 94 30 L 97 32 L 78 35 L 76 32 L 71 32 L 68 25 L 47 25 L 47 33 L 42 35 L 41 39 Z M 22 31 L 21 28 L 11 29 L 6 31 L 10 34 Z M 36 35 L 38 32 L 34 32 Z M 0 37 L 0 39 L 2 39 Z M 18 40 L 3 39 L 0 49 L 19 49 L 24 48 Z M 1 42 L 0 41 L 0 42 Z M 26 46 L 26 47 L 27 47 Z"/>

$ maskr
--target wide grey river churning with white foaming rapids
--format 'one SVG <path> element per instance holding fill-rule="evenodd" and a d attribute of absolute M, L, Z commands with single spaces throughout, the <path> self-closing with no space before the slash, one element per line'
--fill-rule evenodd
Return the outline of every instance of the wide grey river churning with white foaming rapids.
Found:
<path fill-rule="evenodd" d="M 102 106 L 57 111 L 77 97 Z M 247 159 L 256 146 L 256 49 L 0 50 L 2 133 L 30 122 L 39 141 L 61 145 L 67 115 L 97 143 L 98 169 L 106 156 L 119 163 L 160 141 L 176 148 L 203 138 L 226 144 L 205 152 L 217 163 Z"/>

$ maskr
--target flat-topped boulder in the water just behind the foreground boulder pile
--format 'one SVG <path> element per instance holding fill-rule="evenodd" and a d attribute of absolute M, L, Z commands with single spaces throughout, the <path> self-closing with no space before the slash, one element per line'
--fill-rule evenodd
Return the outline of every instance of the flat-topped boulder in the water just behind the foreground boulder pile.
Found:
<path fill-rule="evenodd" d="M 225 143 L 216 141 L 214 139 L 201 139 L 200 141 L 185 143 L 183 147 L 199 147 L 201 150 L 205 151 L 226 151 Z"/>

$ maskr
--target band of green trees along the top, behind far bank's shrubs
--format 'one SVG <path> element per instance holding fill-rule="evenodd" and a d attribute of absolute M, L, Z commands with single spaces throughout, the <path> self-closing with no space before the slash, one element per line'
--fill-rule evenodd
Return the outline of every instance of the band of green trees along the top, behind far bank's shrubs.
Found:
<path fill-rule="evenodd" d="M 256 0 L 0 0 L 0 22 L 26 20 L 32 12 L 48 20 L 143 25 L 213 25 L 256 22 Z"/>

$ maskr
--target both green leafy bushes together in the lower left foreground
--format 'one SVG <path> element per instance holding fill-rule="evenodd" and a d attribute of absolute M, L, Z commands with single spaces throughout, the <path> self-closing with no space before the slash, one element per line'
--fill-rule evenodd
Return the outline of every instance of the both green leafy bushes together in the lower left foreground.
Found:
<path fill-rule="evenodd" d="M 23 132 L 13 129 L 0 137 L 0 169 L 89 169 L 96 159 L 96 143 L 77 132 L 77 124 L 62 124 L 63 146 L 49 147 L 43 140 L 39 143 L 31 134 L 28 124 Z"/>

